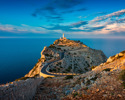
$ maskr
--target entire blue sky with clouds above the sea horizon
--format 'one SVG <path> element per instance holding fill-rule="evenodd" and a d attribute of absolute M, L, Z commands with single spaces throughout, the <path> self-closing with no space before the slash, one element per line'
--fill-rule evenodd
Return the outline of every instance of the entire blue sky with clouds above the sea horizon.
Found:
<path fill-rule="evenodd" d="M 0 0 L 0 38 L 125 38 L 125 0 Z"/>

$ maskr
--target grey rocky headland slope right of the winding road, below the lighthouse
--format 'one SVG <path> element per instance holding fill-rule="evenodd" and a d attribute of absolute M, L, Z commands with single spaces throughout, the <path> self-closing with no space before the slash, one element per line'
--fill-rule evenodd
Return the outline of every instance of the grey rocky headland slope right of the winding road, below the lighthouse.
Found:
<path fill-rule="evenodd" d="M 101 50 L 91 49 L 80 41 L 61 39 L 56 40 L 52 46 L 65 53 L 62 60 L 49 66 L 51 72 L 84 73 L 89 71 L 91 66 L 97 66 L 107 60 Z"/>

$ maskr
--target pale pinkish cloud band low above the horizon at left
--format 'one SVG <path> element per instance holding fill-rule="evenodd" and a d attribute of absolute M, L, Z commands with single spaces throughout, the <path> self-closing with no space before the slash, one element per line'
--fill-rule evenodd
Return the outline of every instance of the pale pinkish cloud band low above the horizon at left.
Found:
<path fill-rule="evenodd" d="M 25 24 L 20 26 L 10 25 L 10 24 L 0 24 L 0 31 L 11 32 L 11 33 L 47 33 L 46 29 L 41 27 L 34 27 Z"/>

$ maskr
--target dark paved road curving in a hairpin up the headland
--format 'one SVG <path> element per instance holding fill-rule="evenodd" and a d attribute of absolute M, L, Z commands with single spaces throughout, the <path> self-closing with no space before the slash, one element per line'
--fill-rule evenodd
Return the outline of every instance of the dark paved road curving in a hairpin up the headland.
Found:
<path fill-rule="evenodd" d="M 59 59 L 59 60 L 62 60 L 62 59 L 64 58 L 64 53 L 65 53 L 65 52 L 60 53 L 60 59 Z M 50 73 L 48 73 L 48 72 L 46 71 L 46 68 L 47 68 L 50 64 L 52 64 L 52 63 L 54 63 L 54 62 L 57 62 L 57 61 L 59 61 L 59 60 L 56 60 L 56 61 L 53 61 L 53 62 L 50 62 L 50 63 L 45 64 L 45 65 L 42 67 L 41 72 L 44 73 L 44 74 L 47 74 L 47 75 L 60 76 L 60 75 L 50 74 Z M 61 76 L 62 76 L 62 75 L 61 75 Z"/>

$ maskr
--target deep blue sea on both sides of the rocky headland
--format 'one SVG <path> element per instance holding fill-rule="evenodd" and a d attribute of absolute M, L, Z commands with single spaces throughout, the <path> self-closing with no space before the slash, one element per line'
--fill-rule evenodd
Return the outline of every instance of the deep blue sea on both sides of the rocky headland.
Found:
<path fill-rule="evenodd" d="M 0 39 L 0 83 L 14 81 L 27 74 L 40 58 L 44 46 L 53 38 L 1 38 Z M 107 57 L 125 50 L 125 39 L 73 39 L 87 46 L 102 50 Z"/>

